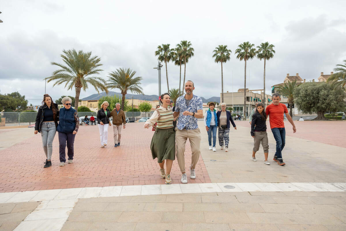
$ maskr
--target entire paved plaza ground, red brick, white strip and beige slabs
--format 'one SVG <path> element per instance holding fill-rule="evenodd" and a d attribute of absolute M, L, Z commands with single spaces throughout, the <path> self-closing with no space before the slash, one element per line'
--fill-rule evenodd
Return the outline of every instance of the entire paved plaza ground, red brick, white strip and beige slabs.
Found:
<path fill-rule="evenodd" d="M 164 185 L 152 160 L 151 130 L 130 123 L 121 146 L 100 148 L 97 126 L 82 126 L 72 164 L 59 167 L 57 135 L 52 167 L 33 128 L 0 130 L 0 230 L 346 230 L 345 122 L 286 124 L 286 166 L 262 148 L 251 160 L 248 121 L 230 132 L 229 152 L 208 150 L 202 121 L 197 178 Z M 191 160 L 186 145 L 186 168 Z M 189 174 L 189 171 L 187 172 Z M 193 184 L 192 184 L 193 183 Z M 226 189 L 232 185 L 234 189 Z M 17 228 L 16 228 L 17 227 Z"/>

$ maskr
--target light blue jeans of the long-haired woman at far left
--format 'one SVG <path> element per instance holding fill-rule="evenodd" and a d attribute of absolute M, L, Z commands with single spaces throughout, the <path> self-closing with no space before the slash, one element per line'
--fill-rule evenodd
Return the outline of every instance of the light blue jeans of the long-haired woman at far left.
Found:
<path fill-rule="evenodd" d="M 47 160 L 52 159 L 53 152 L 53 140 L 56 132 L 56 127 L 54 122 L 43 122 L 41 125 L 41 136 L 43 151 L 46 155 Z"/>

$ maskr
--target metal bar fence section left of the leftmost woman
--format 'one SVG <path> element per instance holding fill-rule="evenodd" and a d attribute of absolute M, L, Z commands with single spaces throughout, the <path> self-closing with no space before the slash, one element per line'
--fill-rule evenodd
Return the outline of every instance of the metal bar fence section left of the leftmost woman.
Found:
<path fill-rule="evenodd" d="M 1 112 L 0 126 L 30 125 L 36 121 L 37 112 Z"/>

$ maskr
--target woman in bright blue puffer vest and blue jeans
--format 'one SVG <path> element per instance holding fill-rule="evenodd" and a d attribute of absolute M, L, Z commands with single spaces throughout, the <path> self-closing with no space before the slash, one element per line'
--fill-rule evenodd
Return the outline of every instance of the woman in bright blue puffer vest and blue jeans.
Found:
<path fill-rule="evenodd" d="M 209 103 L 209 109 L 204 114 L 204 126 L 208 132 L 209 150 L 216 152 L 216 132 L 217 132 L 217 116 L 215 104 L 213 102 Z M 211 135 L 213 136 L 213 145 L 211 146 Z"/>

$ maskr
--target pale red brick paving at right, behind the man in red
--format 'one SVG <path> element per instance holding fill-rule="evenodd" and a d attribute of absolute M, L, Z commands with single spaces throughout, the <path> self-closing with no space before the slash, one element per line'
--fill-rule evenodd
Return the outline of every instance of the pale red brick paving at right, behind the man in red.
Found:
<path fill-rule="evenodd" d="M 249 121 L 236 121 L 237 125 L 251 127 Z M 286 135 L 346 148 L 346 122 L 344 121 L 294 121 L 297 132 L 285 121 Z M 267 131 L 270 132 L 269 121 Z"/>

